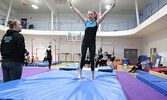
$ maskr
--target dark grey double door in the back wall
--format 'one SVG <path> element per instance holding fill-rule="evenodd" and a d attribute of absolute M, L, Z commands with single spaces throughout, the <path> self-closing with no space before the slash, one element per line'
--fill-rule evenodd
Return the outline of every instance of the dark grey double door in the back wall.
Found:
<path fill-rule="evenodd" d="M 137 55 L 138 55 L 137 49 L 124 49 L 124 58 L 129 58 L 130 62 L 136 62 Z"/>

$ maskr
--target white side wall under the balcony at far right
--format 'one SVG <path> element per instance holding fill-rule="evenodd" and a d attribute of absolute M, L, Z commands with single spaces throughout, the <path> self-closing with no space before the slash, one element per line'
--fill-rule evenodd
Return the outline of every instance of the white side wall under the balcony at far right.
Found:
<path fill-rule="evenodd" d="M 153 33 L 142 38 L 142 55 L 150 56 L 150 48 L 157 48 L 160 56 L 166 58 L 164 65 L 167 66 L 167 29 Z"/>

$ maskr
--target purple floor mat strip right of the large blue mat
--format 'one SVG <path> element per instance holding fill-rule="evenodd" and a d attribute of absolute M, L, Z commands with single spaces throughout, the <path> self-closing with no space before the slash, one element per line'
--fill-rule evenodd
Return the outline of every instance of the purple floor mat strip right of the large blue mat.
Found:
<path fill-rule="evenodd" d="M 128 100 L 167 100 L 167 97 L 127 72 L 116 71 Z"/>

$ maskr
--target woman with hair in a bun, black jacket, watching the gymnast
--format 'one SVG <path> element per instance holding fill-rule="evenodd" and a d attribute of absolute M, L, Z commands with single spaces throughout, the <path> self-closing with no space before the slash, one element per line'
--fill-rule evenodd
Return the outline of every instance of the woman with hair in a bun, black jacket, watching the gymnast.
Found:
<path fill-rule="evenodd" d="M 24 37 L 21 32 L 22 26 L 19 21 L 8 21 L 9 30 L 1 41 L 3 81 L 20 79 L 24 63 L 25 49 Z"/>

